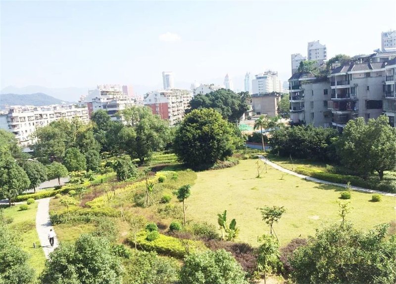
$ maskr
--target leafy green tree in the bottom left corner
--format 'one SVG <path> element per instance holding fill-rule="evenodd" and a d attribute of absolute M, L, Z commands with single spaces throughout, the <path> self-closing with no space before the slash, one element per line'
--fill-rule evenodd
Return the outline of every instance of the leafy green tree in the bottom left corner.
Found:
<path fill-rule="evenodd" d="M 20 240 L 7 226 L 0 211 L 0 283 L 33 283 L 34 270 L 28 259 L 28 253 L 22 250 Z"/>

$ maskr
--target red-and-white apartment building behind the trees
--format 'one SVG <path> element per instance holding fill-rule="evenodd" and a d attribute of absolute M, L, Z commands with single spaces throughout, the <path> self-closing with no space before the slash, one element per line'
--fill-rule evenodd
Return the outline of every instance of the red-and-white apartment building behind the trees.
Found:
<path fill-rule="evenodd" d="M 167 89 L 157 90 L 146 94 L 145 106 L 151 108 L 153 114 L 159 115 L 163 120 L 168 120 L 170 125 L 180 122 L 185 110 L 193 98 L 190 90 Z"/>

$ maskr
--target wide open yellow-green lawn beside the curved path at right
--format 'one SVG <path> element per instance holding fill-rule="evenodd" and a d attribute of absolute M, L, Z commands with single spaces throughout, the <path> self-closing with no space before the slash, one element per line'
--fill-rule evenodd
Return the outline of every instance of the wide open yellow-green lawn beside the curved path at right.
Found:
<path fill-rule="evenodd" d="M 186 202 L 188 219 L 217 225 L 217 213 L 227 209 L 228 219 L 236 218 L 241 229 L 238 240 L 253 245 L 257 244 L 257 236 L 269 233 L 256 209 L 264 205 L 287 209 L 274 225 L 282 244 L 299 236 L 314 235 L 315 229 L 325 224 L 340 222 L 337 201 L 342 188 L 308 182 L 270 166 L 262 178 L 255 178 L 256 161 L 245 160 L 232 168 L 198 172 Z M 395 220 L 395 198 L 382 196 L 380 203 L 369 202 L 370 199 L 371 194 L 352 192 L 350 202 L 354 209 L 347 220 L 364 229 Z"/>

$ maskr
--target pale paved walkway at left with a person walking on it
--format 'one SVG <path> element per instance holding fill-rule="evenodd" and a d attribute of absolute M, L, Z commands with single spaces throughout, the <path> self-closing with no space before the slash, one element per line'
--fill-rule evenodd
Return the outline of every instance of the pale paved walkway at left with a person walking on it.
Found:
<path fill-rule="evenodd" d="M 36 230 L 37 234 L 39 234 L 39 240 L 41 246 L 43 247 L 46 258 L 48 258 L 49 253 L 52 252 L 56 246 L 58 246 L 58 239 L 56 238 L 56 234 L 53 247 L 51 247 L 48 240 L 49 229 L 52 229 L 52 231 L 55 232 L 51 225 L 51 221 L 49 221 L 49 200 L 50 198 L 44 198 L 36 201 L 37 203 L 39 203 L 36 215 Z"/>

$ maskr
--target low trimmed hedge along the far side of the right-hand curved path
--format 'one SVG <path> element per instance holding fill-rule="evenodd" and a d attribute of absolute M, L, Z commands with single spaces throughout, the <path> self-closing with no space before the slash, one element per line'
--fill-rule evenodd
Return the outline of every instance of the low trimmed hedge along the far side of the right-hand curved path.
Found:
<path fill-rule="evenodd" d="M 370 182 L 353 175 L 328 173 L 321 171 L 319 169 L 306 168 L 302 166 L 298 166 L 295 171 L 303 175 L 307 175 L 313 178 L 326 180 L 330 182 L 342 183 L 342 184 L 347 184 L 348 182 L 350 182 L 351 185 L 358 187 L 396 193 L 396 182 L 392 180 L 383 180 L 381 182 Z"/>

